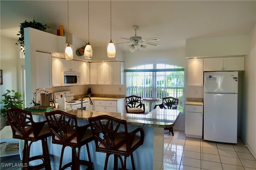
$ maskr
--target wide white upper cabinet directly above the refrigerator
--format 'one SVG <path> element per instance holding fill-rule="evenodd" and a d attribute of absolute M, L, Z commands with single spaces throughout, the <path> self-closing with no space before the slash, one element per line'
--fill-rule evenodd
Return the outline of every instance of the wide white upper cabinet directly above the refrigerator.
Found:
<path fill-rule="evenodd" d="M 244 57 L 205 58 L 204 71 L 244 70 Z"/>

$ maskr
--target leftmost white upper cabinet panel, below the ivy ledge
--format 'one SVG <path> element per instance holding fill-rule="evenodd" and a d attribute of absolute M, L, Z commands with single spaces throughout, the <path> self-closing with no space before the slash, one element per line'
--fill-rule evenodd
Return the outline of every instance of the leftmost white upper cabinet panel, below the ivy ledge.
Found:
<path fill-rule="evenodd" d="M 36 52 L 36 86 L 52 87 L 52 57 L 49 53 Z"/>

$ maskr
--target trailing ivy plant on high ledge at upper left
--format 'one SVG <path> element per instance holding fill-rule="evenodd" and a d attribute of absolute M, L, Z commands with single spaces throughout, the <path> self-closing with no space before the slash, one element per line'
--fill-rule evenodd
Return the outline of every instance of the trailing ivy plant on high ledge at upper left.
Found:
<path fill-rule="evenodd" d="M 46 24 L 43 25 L 40 22 L 36 22 L 35 19 L 33 21 L 29 21 L 29 22 L 27 20 L 25 20 L 24 22 L 20 23 L 20 31 L 17 34 L 17 35 L 20 35 L 20 37 L 18 39 L 18 42 L 15 43 L 15 44 L 20 45 L 21 47 L 23 47 L 23 52 L 25 51 L 25 47 L 24 47 L 24 28 L 26 28 L 26 27 L 38 29 L 38 30 L 41 30 L 41 31 L 44 31 L 44 32 L 46 32 L 45 30 L 47 28 L 50 28 Z"/>

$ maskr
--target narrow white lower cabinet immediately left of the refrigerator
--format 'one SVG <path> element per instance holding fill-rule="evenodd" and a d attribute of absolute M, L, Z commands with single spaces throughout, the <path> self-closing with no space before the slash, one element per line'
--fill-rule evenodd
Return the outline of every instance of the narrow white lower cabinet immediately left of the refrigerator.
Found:
<path fill-rule="evenodd" d="M 203 134 L 203 106 L 185 105 L 185 133 L 186 137 L 202 139 Z"/>

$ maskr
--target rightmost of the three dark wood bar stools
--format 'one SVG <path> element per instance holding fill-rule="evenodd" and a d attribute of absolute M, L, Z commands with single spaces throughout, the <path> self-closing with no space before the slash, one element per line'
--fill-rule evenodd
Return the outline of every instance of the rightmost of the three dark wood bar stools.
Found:
<path fill-rule="evenodd" d="M 91 130 L 93 133 L 96 152 L 106 153 L 104 170 L 108 166 L 108 158 L 114 154 L 114 170 L 118 168 L 118 158 L 120 159 L 122 170 L 126 170 L 126 158 L 131 156 L 132 169 L 135 170 L 133 152 L 140 145 L 143 145 L 144 130 L 137 128 L 128 133 L 127 122 L 108 115 L 89 117 Z M 124 131 L 120 131 L 124 128 Z M 140 136 L 136 134 L 140 132 Z M 124 156 L 124 161 L 122 157 Z"/>

